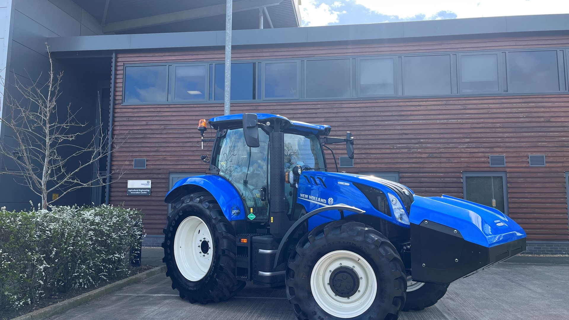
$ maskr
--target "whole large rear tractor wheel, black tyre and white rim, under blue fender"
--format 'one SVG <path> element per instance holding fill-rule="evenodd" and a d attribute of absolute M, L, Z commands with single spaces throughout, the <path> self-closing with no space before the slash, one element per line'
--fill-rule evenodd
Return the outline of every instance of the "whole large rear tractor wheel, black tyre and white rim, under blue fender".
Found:
<path fill-rule="evenodd" d="M 245 286 L 235 272 L 233 227 L 208 192 L 184 196 L 173 204 L 164 228 L 166 276 L 189 302 L 226 300 Z"/>

